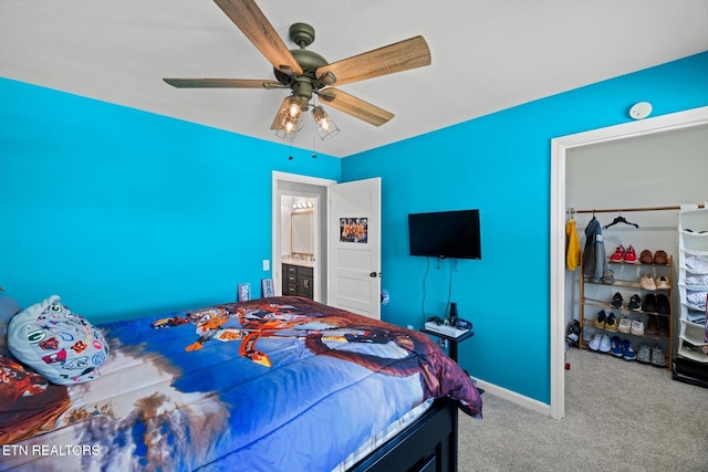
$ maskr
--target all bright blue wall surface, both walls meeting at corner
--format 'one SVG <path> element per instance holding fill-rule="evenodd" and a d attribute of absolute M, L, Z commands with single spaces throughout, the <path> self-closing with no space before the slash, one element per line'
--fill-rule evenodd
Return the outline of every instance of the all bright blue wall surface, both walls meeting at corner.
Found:
<path fill-rule="evenodd" d="M 708 105 L 708 53 L 343 160 L 0 80 L 0 284 L 95 322 L 233 300 L 239 282 L 260 293 L 272 170 L 379 176 L 384 319 L 423 318 L 428 261 L 407 255 L 407 214 L 479 208 L 483 259 L 429 261 L 426 314 L 451 281 L 475 323 L 462 366 L 548 403 L 550 140 L 628 122 L 641 101 L 653 116 Z"/>

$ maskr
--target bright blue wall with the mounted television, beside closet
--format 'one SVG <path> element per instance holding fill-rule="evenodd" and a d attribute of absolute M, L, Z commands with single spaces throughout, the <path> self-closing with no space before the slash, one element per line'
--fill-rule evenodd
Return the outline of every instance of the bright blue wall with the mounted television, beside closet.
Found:
<path fill-rule="evenodd" d="M 451 301 L 475 324 L 460 345 L 462 367 L 548 403 L 551 139 L 629 122 L 642 101 L 653 116 L 708 105 L 708 53 L 346 158 L 343 180 L 382 178 L 382 286 L 391 295 L 382 317 L 420 325 L 429 263 L 426 316 L 446 313 L 451 281 Z M 632 176 L 606 170 L 598 188 L 631 185 Z M 660 169 L 637 169 L 646 171 Z M 438 266 L 408 255 L 408 213 L 466 208 L 480 209 L 482 260 Z"/>

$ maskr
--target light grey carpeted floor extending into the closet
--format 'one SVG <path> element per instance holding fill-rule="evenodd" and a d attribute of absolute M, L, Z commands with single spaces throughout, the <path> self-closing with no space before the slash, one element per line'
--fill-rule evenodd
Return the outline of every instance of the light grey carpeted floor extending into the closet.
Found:
<path fill-rule="evenodd" d="M 708 389 L 589 350 L 568 360 L 562 420 L 489 392 L 483 420 L 460 415 L 460 472 L 708 472 Z"/>

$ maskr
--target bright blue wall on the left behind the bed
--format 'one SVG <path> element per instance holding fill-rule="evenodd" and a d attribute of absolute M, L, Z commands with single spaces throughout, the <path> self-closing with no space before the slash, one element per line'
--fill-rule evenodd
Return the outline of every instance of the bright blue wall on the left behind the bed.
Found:
<path fill-rule="evenodd" d="M 0 104 L 0 285 L 96 323 L 260 296 L 272 170 L 340 179 L 339 158 L 14 81 Z"/>

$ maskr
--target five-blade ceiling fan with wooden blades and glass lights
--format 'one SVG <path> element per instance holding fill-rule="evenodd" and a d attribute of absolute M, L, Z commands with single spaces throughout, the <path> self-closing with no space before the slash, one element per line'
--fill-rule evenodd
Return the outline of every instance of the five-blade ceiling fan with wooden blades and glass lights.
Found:
<path fill-rule="evenodd" d="M 394 115 L 332 85 L 344 85 L 430 64 L 430 50 L 423 36 L 410 38 L 334 63 L 305 48 L 314 41 L 314 28 L 305 23 L 290 27 L 290 39 L 300 49 L 289 50 L 253 0 L 214 0 L 233 24 L 273 65 L 275 80 L 252 78 L 163 78 L 178 88 L 290 88 L 271 124 L 279 137 L 293 140 L 302 127 L 301 114 L 313 95 L 322 103 L 375 126 Z M 320 137 L 326 139 L 339 129 L 322 106 L 314 106 Z"/>

